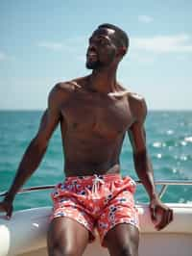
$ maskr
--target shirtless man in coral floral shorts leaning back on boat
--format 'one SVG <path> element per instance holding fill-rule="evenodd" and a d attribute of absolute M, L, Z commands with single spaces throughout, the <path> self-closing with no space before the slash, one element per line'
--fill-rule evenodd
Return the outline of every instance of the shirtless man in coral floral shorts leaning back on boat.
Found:
<path fill-rule="evenodd" d="M 173 212 L 156 195 L 153 168 L 146 149 L 145 100 L 123 89 L 116 80 L 129 39 L 121 29 L 103 24 L 89 38 L 86 77 L 60 83 L 51 90 L 39 130 L 18 167 L 0 210 L 12 216 L 16 192 L 34 173 L 60 123 L 65 181 L 52 193 L 54 211 L 48 231 L 50 256 L 83 255 L 98 229 L 111 256 L 138 255 L 139 225 L 134 207 L 135 185 L 120 176 L 119 156 L 126 133 L 132 142 L 136 173 L 150 197 L 156 229 Z"/>

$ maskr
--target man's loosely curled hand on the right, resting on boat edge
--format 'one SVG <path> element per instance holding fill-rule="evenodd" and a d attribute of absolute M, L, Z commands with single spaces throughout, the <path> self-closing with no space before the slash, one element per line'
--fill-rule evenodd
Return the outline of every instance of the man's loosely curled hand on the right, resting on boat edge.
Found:
<path fill-rule="evenodd" d="M 153 198 L 150 202 L 152 221 L 156 229 L 160 230 L 173 220 L 173 210 L 163 204 L 158 198 Z"/>

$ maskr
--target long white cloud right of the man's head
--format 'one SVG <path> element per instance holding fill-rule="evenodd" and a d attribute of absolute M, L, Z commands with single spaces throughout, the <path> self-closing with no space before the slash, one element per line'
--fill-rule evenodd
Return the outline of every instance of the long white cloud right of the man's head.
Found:
<path fill-rule="evenodd" d="M 192 40 L 189 35 L 156 36 L 152 38 L 131 38 L 131 47 L 136 50 L 155 53 L 192 53 Z"/>

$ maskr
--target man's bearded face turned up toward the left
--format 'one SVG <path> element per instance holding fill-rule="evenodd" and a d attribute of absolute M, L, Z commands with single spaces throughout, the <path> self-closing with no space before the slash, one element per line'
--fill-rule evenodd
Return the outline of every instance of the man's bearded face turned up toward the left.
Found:
<path fill-rule="evenodd" d="M 93 32 L 89 38 L 86 52 L 86 67 L 97 69 L 108 66 L 114 61 L 117 46 L 115 45 L 115 31 L 101 28 Z"/>

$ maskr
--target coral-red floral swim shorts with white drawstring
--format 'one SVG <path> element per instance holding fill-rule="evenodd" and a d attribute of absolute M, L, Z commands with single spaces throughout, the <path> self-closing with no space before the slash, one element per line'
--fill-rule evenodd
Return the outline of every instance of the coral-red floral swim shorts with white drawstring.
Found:
<path fill-rule="evenodd" d="M 70 176 L 52 193 L 54 211 L 51 219 L 73 218 L 90 231 L 95 228 L 103 246 L 108 230 L 119 223 L 129 223 L 139 229 L 138 211 L 134 206 L 135 182 L 120 174 Z"/>

